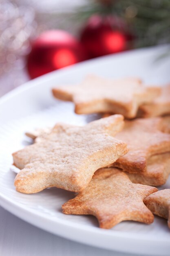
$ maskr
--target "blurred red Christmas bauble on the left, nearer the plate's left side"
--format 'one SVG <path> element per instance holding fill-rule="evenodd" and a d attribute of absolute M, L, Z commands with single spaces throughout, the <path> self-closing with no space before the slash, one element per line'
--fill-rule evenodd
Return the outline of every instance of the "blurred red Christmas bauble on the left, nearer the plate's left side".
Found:
<path fill-rule="evenodd" d="M 71 34 L 62 30 L 42 33 L 32 44 L 27 58 L 31 79 L 87 59 L 84 48 Z"/>

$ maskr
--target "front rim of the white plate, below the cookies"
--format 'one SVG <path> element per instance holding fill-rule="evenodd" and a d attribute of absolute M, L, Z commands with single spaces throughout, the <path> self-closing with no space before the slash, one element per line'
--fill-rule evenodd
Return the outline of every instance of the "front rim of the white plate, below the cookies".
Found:
<path fill-rule="evenodd" d="M 123 253 L 139 254 L 140 249 L 142 255 L 169 256 L 169 240 L 165 238 L 160 239 L 159 237 L 155 239 L 150 236 L 150 239 L 148 240 L 148 236 L 141 234 L 137 235 L 128 233 L 126 231 L 122 232 L 108 229 L 99 229 L 98 227 L 93 226 L 86 227 L 83 224 L 77 224 L 75 222 L 71 223 L 71 221 L 59 219 L 57 216 L 50 216 L 50 218 L 46 218 L 46 214 L 37 213 L 36 210 L 26 206 L 22 207 L 20 203 L 14 203 L 10 198 L 2 195 L 2 193 L 0 193 L 0 205 L 13 215 L 28 222 L 29 224 L 68 240 L 73 240 L 78 243 Z M 55 227 L 54 221 L 55 225 L 57 225 L 57 229 L 55 229 L 55 231 L 51 229 L 51 225 Z M 90 237 L 96 236 L 97 240 L 102 240 L 104 238 L 108 243 L 97 243 L 96 239 L 91 239 L 89 242 L 89 239 L 87 238 L 89 232 L 91 235 Z M 124 242 L 124 247 L 121 246 L 122 240 Z M 134 244 L 135 247 L 133 247 Z M 164 249 L 163 252 L 162 249 Z M 162 254 L 160 254 L 161 252 Z"/>

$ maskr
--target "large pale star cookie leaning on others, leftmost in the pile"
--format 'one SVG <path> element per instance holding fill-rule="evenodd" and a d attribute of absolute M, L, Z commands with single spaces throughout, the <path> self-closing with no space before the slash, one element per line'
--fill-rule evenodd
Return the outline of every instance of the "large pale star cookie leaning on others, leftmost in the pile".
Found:
<path fill-rule="evenodd" d="M 15 178 L 17 191 L 36 193 L 53 186 L 83 190 L 97 169 L 127 153 L 126 144 L 112 137 L 123 125 L 122 115 L 86 126 L 55 125 L 43 140 L 13 153 L 14 165 L 23 169 Z"/>

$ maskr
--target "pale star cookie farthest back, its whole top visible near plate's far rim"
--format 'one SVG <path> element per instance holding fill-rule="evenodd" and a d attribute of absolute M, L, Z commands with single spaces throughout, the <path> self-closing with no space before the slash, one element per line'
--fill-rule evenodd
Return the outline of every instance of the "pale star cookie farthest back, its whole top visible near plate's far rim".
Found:
<path fill-rule="evenodd" d="M 77 114 L 114 113 L 133 118 L 139 106 L 152 102 L 160 88 L 145 87 L 140 79 L 105 79 L 89 75 L 79 85 L 53 89 L 57 99 L 73 101 Z"/>

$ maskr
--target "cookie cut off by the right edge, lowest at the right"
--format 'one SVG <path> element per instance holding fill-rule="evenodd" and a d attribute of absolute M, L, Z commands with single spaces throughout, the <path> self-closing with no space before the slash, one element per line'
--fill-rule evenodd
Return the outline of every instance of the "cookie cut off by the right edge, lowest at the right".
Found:
<path fill-rule="evenodd" d="M 163 189 L 149 195 L 144 203 L 152 213 L 167 219 L 170 228 L 170 189 Z"/>

